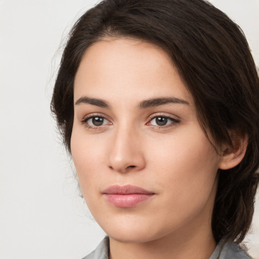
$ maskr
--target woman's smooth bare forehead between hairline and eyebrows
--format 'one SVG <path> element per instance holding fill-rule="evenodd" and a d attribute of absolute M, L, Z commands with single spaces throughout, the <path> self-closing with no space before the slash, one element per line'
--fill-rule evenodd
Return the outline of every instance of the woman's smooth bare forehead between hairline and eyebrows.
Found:
<path fill-rule="evenodd" d="M 74 82 L 74 99 L 82 95 L 118 101 L 192 96 L 168 55 L 136 39 L 105 39 L 83 55 Z"/>

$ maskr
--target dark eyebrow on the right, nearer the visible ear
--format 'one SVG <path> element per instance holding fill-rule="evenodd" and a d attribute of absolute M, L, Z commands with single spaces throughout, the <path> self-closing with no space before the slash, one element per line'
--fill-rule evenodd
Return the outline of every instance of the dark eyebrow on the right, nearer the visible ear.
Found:
<path fill-rule="evenodd" d="M 145 108 L 164 105 L 164 104 L 168 104 L 168 103 L 190 105 L 190 103 L 187 102 L 186 100 L 183 100 L 183 99 L 180 99 L 177 97 L 160 97 L 160 98 L 144 100 L 139 103 L 138 108 L 145 109 Z"/>

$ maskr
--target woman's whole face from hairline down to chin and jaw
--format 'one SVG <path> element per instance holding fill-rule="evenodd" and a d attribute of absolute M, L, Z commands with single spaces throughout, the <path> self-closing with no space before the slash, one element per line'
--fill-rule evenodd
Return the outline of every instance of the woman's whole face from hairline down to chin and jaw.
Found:
<path fill-rule="evenodd" d="M 97 42 L 79 65 L 74 103 L 72 158 L 84 199 L 110 238 L 211 231 L 221 158 L 162 50 L 127 38 Z"/>

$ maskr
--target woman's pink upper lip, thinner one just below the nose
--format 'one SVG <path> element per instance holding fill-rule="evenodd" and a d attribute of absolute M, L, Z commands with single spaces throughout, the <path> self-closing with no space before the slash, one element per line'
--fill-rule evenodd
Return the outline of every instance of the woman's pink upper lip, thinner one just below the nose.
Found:
<path fill-rule="evenodd" d="M 154 194 L 153 192 L 147 191 L 141 187 L 133 185 L 112 185 L 103 191 L 104 194 Z"/>

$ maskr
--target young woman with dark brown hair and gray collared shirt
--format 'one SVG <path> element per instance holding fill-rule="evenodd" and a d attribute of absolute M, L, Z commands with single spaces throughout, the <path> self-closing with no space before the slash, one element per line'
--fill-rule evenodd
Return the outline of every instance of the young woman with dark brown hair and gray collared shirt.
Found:
<path fill-rule="evenodd" d="M 249 258 L 259 80 L 202 0 L 107 0 L 71 30 L 52 110 L 108 237 L 85 258 Z"/>

